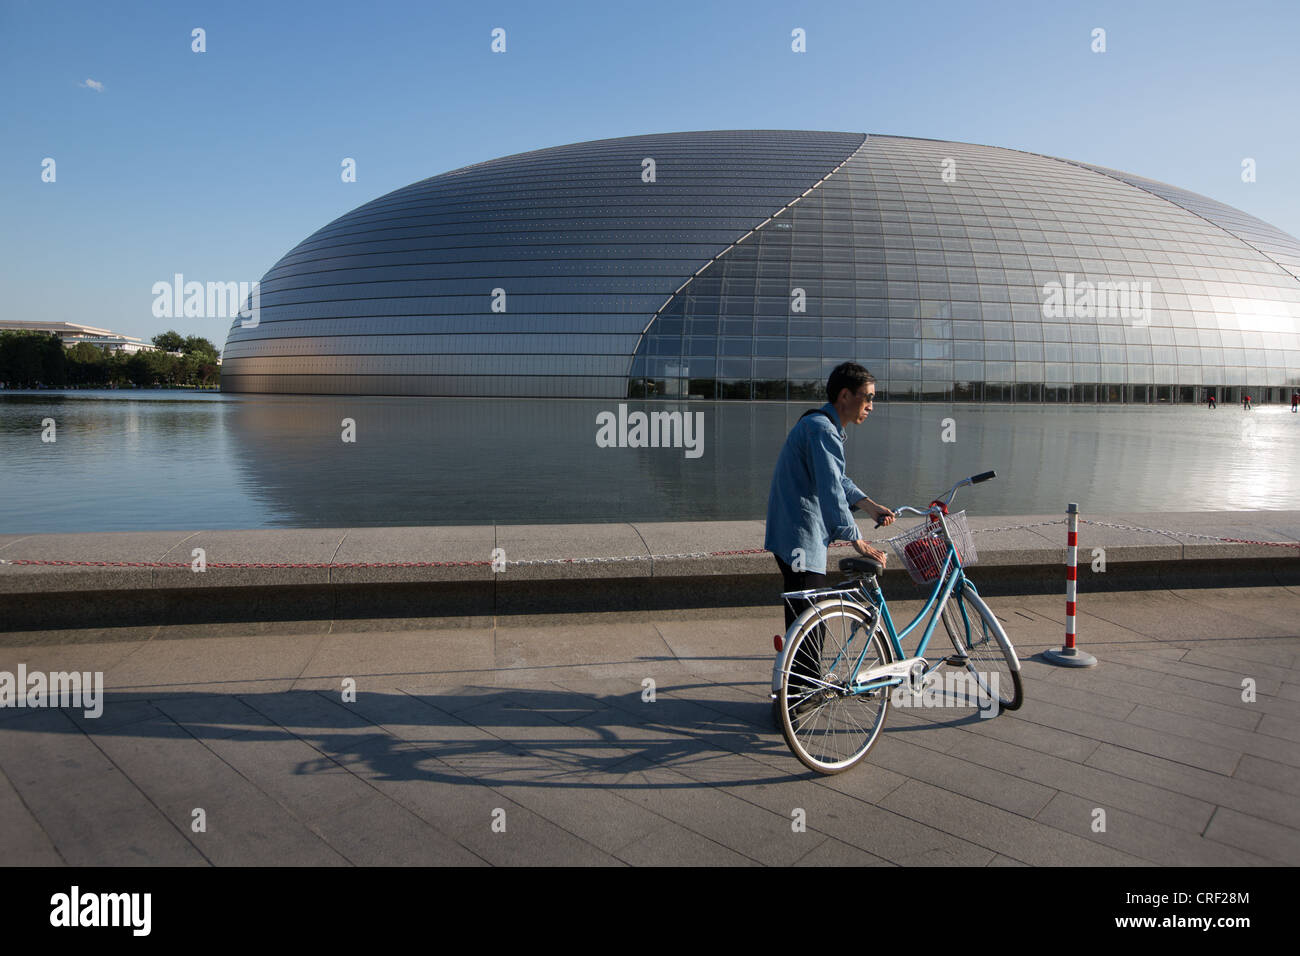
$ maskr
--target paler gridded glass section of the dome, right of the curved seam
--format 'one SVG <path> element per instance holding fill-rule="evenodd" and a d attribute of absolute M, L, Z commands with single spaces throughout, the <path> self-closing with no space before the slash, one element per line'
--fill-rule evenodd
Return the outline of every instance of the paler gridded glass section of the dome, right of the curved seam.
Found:
<path fill-rule="evenodd" d="M 854 359 L 890 398 L 1282 401 L 1300 384 L 1297 265 L 1294 238 L 1164 183 L 871 137 L 664 304 L 628 394 L 824 401 Z M 1132 300 L 1149 320 L 1113 299 L 1044 317 L 1071 277 L 1149 284 Z"/>

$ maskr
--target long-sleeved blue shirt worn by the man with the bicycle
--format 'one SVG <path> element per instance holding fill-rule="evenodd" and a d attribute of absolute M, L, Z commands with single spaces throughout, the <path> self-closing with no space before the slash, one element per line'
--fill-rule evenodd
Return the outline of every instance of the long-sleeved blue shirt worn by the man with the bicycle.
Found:
<path fill-rule="evenodd" d="M 867 497 L 845 473 L 846 436 L 835 406 L 827 402 L 822 410 L 836 424 L 826 415 L 800 419 L 776 459 L 763 540 L 763 548 L 786 564 L 802 548 L 803 570 L 818 574 L 826 574 L 827 545 L 861 537 L 849 507 Z"/>

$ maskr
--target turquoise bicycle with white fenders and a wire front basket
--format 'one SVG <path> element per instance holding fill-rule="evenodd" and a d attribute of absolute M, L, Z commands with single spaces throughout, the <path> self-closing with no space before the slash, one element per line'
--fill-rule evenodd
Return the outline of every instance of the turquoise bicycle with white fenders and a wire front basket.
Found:
<path fill-rule="evenodd" d="M 874 558 L 841 559 L 840 571 L 853 576 L 833 588 L 783 593 L 786 601 L 809 606 L 784 639 L 777 637 L 774 708 L 785 743 L 810 770 L 837 774 L 858 763 L 884 727 L 890 695 L 922 695 L 927 679 L 944 665 L 970 671 L 991 710 L 1015 710 L 1023 702 L 1015 648 L 966 576 L 965 564 L 976 561 L 966 512 L 948 512 L 958 488 L 992 477 L 989 471 L 962 479 L 926 509 L 893 509 L 896 515 L 927 519 L 889 544 L 916 584 L 932 583 L 926 606 L 902 631 L 896 630 L 876 580 L 884 566 Z M 927 615 L 909 657 L 902 639 Z M 926 648 L 940 620 L 957 653 L 931 665 Z"/>

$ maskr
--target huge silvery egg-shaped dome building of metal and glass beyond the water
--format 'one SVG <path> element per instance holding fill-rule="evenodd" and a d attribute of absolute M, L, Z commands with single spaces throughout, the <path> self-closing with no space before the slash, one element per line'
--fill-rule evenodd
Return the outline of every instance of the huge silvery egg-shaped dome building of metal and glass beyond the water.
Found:
<path fill-rule="evenodd" d="M 235 321 L 229 392 L 1282 401 L 1300 242 L 1113 169 L 740 130 L 478 163 L 330 222 Z"/>

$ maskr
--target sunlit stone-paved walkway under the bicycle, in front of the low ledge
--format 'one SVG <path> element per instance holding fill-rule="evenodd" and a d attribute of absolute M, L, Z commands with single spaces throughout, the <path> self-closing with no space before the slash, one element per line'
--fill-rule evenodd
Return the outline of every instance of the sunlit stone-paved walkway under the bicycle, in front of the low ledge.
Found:
<path fill-rule="evenodd" d="M 989 604 L 1020 644 L 1024 706 L 993 719 L 894 708 L 868 758 L 835 777 L 807 773 L 772 727 L 775 605 L 694 620 L 10 641 L 0 671 L 103 671 L 105 700 L 101 718 L 0 709 L 0 853 L 12 865 L 1300 864 L 1300 700 L 1284 696 L 1300 688 L 1300 593 L 1089 594 L 1080 632 L 1109 620 L 1114 640 L 1086 645 L 1100 663 L 1084 670 L 1039 658 L 1060 644 L 1056 598 Z M 190 827 L 194 808 L 205 832 Z"/>

